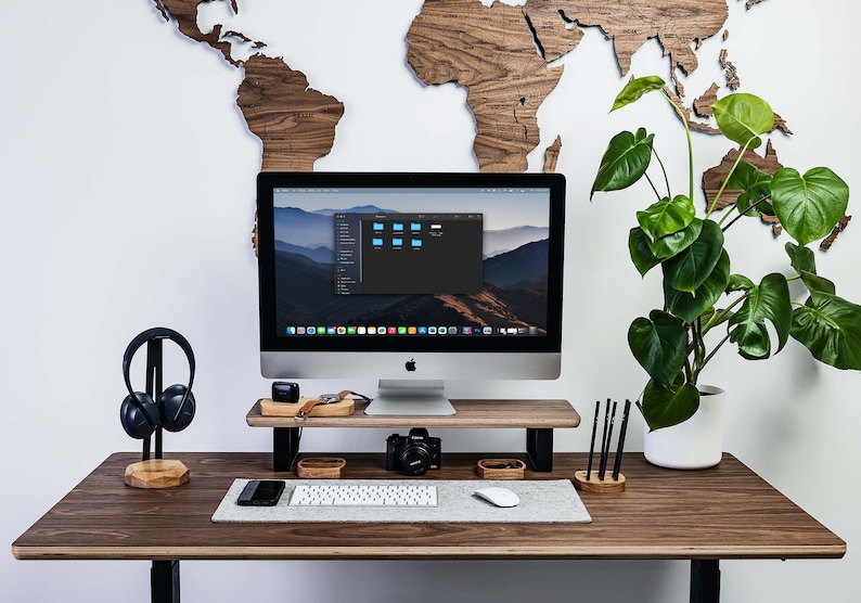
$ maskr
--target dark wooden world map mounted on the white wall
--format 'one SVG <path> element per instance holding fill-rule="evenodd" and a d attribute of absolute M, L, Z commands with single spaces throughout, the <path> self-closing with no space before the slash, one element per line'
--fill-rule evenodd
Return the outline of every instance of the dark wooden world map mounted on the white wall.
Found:
<path fill-rule="evenodd" d="M 244 69 L 236 104 L 248 129 L 262 142 L 261 170 L 310 171 L 318 158 L 331 152 L 335 126 L 344 115 L 340 101 L 311 88 L 307 77 L 283 57 L 266 55 L 265 42 L 226 30 L 221 24 L 206 33 L 198 28 L 202 3 L 226 2 L 237 15 L 237 0 L 149 1 L 180 34 L 208 44 L 230 65 Z M 721 48 L 715 57 L 724 81 L 720 86 L 714 82 L 690 108 L 683 102 L 685 91 L 679 74 L 691 75 L 698 67 L 694 49 L 704 40 L 717 35 L 724 43 L 729 39 L 724 24 L 728 2 L 733 1 L 741 0 L 528 0 L 517 7 L 498 1 L 486 7 L 479 0 L 425 0 L 407 34 L 407 62 L 427 86 L 455 82 L 466 88 L 466 104 L 477 130 L 473 151 L 479 170 L 526 171 L 527 155 L 540 143 L 538 111 L 564 70 L 564 66 L 550 63 L 575 51 L 590 28 L 597 28 L 613 42 L 622 76 L 628 75 L 633 53 L 656 39 L 669 59 L 673 89 L 667 91 L 673 102 L 692 129 L 715 132 L 703 119 L 711 117 L 718 91 L 721 87 L 736 90 L 741 85 L 727 49 Z M 750 10 L 762 1 L 747 0 L 745 4 Z M 235 59 L 234 44 L 249 46 L 250 55 Z M 792 133 L 778 115 L 775 128 Z M 555 170 L 562 144 L 556 137 L 544 150 L 545 171 Z M 720 165 L 704 175 L 707 204 L 714 198 L 715 182 L 737 153 L 730 150 Z M 751 153 L 748 161 L 769 174 L 780 167 L 770 142 L 764 157 Z M 737 192 L 730 192 L 727 202 L 734 196 Z M 831 246 L 848 222 L 847 217 L 837 224 L 823 246 Z M 780 226 L 771 226 L 779 234 Z"/>

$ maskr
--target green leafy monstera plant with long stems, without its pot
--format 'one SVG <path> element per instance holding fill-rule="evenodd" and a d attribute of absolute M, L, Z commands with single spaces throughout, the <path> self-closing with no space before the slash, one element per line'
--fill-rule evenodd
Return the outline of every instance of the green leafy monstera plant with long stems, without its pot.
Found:
<path fill-rule="evenodd" d="M 697 217 L 691 131 L 665 82 L 655 76 L 629 81 L 611 111 L 653 91 L 667 99 L 684 124 L 684 188 L 670 190 L 655 137 L 640 128 L 611 140 L 590 195 L 626 189 L 643 178 L 654 193 L 655 202 L 637 211 L 638 226 L 628 236 L 640 274 L 663 271 L 661 306 L 637 318 L 628 331 L 631 351 L 650 376 L 638 400 L 650 429 L 679 424 L 696 412 L 701 372 L 727 344 L 735 344 L 742 357 L 759 360 L 778 354 L 793 337 L 825 364 L 861 370 L 861 306 L 837 296 L 834 283 L 817 273 L 808 247 L 827 236 L 844 216 L 847 184 L 826 167 L 805 174 L 783 167 L 771 176 L 745 163 L 745 153 L 771 131 L 774 112 L 758 97 L 733 93 L 712 108 L 720 132 L 740 144 L 741 153 L 705 216 Z M 650 174 L 653 156 L 659 168 Z M 734 205 L 716 215 L 727 189 L 741 193 Z M 775 215 L 795 242 L 785 245 L 788 275 L 775 272 L 755 282 L 733 273 L 724 232 L 738 218 L 760 214 Z M 740 253 L 759 252 L 748 247 Z"/>

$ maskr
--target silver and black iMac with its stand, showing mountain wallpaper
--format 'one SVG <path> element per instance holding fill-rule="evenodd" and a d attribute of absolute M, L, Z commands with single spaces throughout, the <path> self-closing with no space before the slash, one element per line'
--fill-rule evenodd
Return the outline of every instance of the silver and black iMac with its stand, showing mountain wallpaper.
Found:
<path fill-rule="evenodd" d="M 368 414 L 453 414 L 447 380 L 560 375 L 565 179 L 261 172 L 260 369 L 376 379 Z"/>

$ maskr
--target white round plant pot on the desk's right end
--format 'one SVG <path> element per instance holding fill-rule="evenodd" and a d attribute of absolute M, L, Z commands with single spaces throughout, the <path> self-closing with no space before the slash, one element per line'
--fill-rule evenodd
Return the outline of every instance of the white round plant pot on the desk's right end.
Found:
<path fill-rule="evenodd" d="M 645 426 L 643 453 L 646 461 L 667 469 L 706 469 L 723 454 L 723 408 L 720 387 L 699 385 L 699 409 L 678 425 L 654 432 Z"/>

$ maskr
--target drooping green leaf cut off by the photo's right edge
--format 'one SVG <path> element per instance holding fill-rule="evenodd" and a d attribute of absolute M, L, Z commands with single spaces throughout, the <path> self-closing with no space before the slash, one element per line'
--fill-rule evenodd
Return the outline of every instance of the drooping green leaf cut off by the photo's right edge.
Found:
<path fill-rule="evenodd" d="M 837 369 L 861 370 L 861 306 L 813 292 L 807 305 L 793 312 L 791 334 L 817 360 Z"/>

